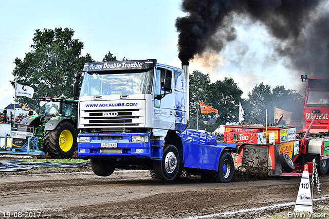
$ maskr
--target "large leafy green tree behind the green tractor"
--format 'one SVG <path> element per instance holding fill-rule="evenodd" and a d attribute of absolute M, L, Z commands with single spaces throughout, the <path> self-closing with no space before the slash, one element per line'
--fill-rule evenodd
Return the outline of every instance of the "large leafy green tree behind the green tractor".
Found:
<path fill-rule="evenodd" d="M 81 57 L 83 43 L 72 39 L 72 29 L 37 29 L 34 33 L 33 49 L 24 60 L 15 59 L 12 74 L 17 83 L 34 89 L 33 99 L 17 97 L 16 101 L 35 108 L 39 97 L 74 98 L 75 73 L 83 69 L 85 62 L 93 62 L 89 54 Z M 14 86 L 14 81 L 11 84 Z"/>

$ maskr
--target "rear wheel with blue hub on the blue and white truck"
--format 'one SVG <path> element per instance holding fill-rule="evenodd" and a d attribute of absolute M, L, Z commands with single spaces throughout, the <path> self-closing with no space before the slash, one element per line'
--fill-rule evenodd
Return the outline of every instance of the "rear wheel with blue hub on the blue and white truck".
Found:
<path fill-rule="evenodd" d="M 223 151 L 218 162 L 218 171 L 212 174 L 214 182 L 229 182 L 233 178 L 234 161 L 228 151 Z"/>

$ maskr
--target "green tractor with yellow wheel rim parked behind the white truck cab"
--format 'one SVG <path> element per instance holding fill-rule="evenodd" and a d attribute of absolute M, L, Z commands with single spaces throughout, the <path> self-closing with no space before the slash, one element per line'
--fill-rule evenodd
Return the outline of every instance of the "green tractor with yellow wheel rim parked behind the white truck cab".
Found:
<path fill-rule="evenodd" d="M 52 158 L 69 158 L 77 150 L 78 101 L 39 98 L 39 113 L 20 124 L 33 125 L 38 147 Z"/>

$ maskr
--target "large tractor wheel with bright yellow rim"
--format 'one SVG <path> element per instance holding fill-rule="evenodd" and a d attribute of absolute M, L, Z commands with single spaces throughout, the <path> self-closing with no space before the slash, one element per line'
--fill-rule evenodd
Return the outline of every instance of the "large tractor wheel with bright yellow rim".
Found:
<path fill-rule="evenodd" d="M 69 122 L 61 122 L 55 129 L 46 131 L 44 151 L 52 158 L 69 158 L 76 149 L 77 133 Z"/>

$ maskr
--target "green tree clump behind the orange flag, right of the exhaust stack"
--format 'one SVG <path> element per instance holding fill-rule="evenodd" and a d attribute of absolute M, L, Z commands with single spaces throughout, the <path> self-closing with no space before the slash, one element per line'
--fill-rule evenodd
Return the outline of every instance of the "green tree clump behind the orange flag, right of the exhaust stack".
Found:
<path fill-rule="evenodd" d="M 218 110 L 218 114 L 198 113 L 199 129 L 214 131 L 220 124 L 227 121 L 235 121 L 239 116 L 239 101 L 242 90 L 237 87 L 231 78 L 225 78 L 224 81 L 212 83 L 209 74 L 205 75 L 198 70 L 194 70 L 190 75 L 190 124 L 191 129 L 197 126 L 197 107 L 198 99 L 208 106 Z M 213 122 L 208 122 L 213 119 Z M 205 124 L 207 122 L 207 124 Z"/>

